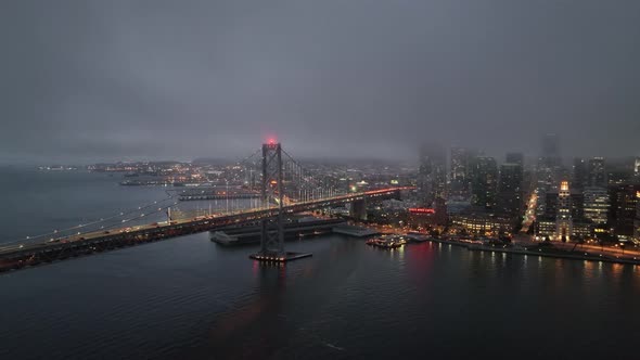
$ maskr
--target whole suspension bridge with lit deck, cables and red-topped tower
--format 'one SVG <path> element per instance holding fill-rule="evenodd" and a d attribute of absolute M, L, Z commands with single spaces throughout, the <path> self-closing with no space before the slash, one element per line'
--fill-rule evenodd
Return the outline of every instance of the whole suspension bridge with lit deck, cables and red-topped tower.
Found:
<path fill-rule="evenodd" d="M 249 257 L 286 261 L 299 257 L 299 254 L 284 249 L 285 217 L 351 204 L 351 216 L 361 218 L 367 201 L 398 198 L 401 191 L 413 189 L 382 187 L 350 192 L 348 187 L 341 187 L 335 177 L 312 173 L 304 168 L 280 143 L 272 141 L 240 160 L 238 167 L 246 193 L 259 195 L 249 196 L 252 200 L 257 197 L 257 201 L 251 201 L 247 207 L 230 209 L 227 205 L 220 213 L 212 214 L 209 210 L 205 215 L 177 218 L 171 215 L 171 209 L 178 205 L 178 195 L 170 195 L 77 227 L 5 242 L 0 246 L 0 271 L 247 223 L 259 223 L 261 229 L 260 249 Z M 229 192 L 226 194 L 235 196 Z M 166 214 L 165 221 L 131 226 L 161 214 Z"/>

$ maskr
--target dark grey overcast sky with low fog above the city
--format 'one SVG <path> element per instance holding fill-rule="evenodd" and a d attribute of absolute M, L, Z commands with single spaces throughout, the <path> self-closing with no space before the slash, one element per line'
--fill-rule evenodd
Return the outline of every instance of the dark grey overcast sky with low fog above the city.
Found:
<path fill-rule="evenodd" d="M 638 0 L 4 0 L 0 160 L 640 154 Z"/>

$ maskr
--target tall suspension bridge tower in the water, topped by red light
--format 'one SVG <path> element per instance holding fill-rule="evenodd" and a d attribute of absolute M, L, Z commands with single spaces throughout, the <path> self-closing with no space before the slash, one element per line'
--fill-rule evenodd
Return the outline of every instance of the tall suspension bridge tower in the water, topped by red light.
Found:
<path fill-rule="evenodd" d="M 260 253 L 265 256 L 284 255 L 284 232 L 282 229 L 282 146 L 280 143 L 263 144 L 263 204 L 276 203 L 278 216 L 261 221 Z"/>

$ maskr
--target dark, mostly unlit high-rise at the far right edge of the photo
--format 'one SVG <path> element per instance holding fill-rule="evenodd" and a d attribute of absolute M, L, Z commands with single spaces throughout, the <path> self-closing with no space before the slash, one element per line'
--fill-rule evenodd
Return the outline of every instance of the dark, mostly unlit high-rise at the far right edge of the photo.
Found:
<path fill-rule="evenodd" d="M 609 224 L 619 239 L 629 240 L 633 236 L 633 220 L 638 202 L 640 184 L 620 184 L 609 188 L 611 207 L 609 211 Z"/>

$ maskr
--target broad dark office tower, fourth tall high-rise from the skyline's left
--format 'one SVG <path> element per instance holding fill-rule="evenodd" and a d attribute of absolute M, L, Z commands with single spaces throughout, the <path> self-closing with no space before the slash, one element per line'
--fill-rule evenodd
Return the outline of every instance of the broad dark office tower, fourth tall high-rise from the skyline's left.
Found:
<path fill-rule="evenodd" d="M 523 170 L 521 164 L 502 164 L 500 166 L 500 180 L 498 182 L 498 196 L 496 210 L 512 218 L 522 213 L 522 182 Z"/>

